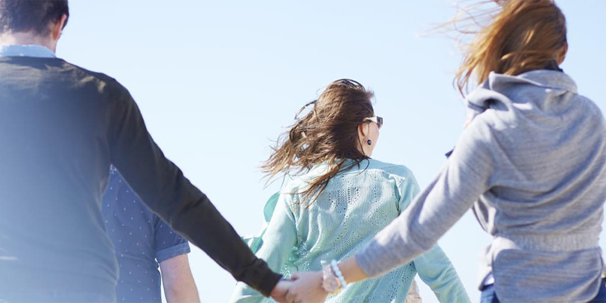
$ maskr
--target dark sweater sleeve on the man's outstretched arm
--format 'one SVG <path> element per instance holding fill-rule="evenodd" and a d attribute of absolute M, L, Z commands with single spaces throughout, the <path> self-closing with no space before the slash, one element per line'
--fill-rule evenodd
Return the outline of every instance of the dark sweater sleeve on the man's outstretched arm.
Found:
<path fill-rule="evenodd" d="M 204 193 L 151 139 L 130 93 L 115 82 L 108 113 L 110 159 L 142 201 L 233 277 L 265 296 L 281 279 L 250 251 Z"/>

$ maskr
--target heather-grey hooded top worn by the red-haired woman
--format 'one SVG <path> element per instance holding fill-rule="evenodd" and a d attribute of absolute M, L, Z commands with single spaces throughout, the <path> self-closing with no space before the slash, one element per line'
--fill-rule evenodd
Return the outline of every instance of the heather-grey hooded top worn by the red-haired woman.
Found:
<path fill-rule="evenodd" d="M 505 302 L 587 302 L 598 293 L 606 127 L 565 73 L 491 73 L 476 117 L 439 176 L 356 255 L 378 276 L 430 249 L 472 205 L 494 236 L 482 254 Z M 475 204 L 474 204 L 475 202 Z"/>

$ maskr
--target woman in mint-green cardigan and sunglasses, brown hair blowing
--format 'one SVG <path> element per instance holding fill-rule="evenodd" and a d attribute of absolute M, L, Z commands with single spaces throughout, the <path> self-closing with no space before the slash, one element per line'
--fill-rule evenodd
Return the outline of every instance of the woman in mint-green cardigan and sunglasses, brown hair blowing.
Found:
<path fill-rule="evenodd" d="M 251 241 L 251 248 L 287 278 L 351 256 L 418 193 L 408 168 L 370 158 L 383 122 L 375 115 L 372 96 L 356 81 L 332 82 L 302 108 L 308 113 L 296 118 L 263 166 L 270 178 L 284 174 L 293 179 L 268 201 L 267 228 Z M 353 285 L 329 300 L 404 302 L 417 273 L 439 301 L 469 301 L 437 245 L 384 277 Z M 262 300 L 244 284 L 238 284 L 232 296 L 237 302 Z"/>

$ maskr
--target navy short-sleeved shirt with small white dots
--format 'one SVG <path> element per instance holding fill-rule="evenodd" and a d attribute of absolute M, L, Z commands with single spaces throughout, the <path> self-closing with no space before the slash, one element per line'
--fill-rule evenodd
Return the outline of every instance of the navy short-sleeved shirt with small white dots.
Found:
<path fill-rule="evenodd" d="M 118 302 L 162 302 L 159 263 L 190 252 L 187 239 L 141 202 L 112 166 L 102 210 L 112 239 L 119 278 Z"/>

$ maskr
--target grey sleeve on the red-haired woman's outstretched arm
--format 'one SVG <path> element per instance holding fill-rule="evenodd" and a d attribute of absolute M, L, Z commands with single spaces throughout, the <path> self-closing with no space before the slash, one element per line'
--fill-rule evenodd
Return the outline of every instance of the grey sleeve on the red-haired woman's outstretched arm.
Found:
<path fill-rule="evenodd" d="M 367 276 L 380 276 L 430 250 L 490 188 L 495 162 L 490 127 L 477 120 L 465 129 L 438 177 L 356 253 Z"/>

